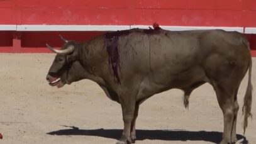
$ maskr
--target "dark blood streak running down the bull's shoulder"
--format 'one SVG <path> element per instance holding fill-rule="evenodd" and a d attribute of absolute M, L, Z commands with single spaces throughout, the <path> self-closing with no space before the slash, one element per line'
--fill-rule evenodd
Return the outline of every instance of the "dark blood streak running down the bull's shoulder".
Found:
<path fill-rule="evenodd" d="M 118 70 L 120 71 L 120 55 L 118 50 L 118 40 L 120 36 L 125 36 L 131 33 L 130 30 L 116 31 L 105 34 L 105 45 L 109 56 L 109 64 L 111 64 L 114 78 L 120 84 L 120 77 Z"/>

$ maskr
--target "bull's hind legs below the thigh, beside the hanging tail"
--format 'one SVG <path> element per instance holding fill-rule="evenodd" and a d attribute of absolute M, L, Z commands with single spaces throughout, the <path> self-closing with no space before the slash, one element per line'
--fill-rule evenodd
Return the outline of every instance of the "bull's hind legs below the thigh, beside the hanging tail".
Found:
<path fill-rule="evenodd" d="M 231 144 L 237 141 L 236 137 L 236 121 L 237 111 L 239 109 L 237 103 L 237 88 L 230 88 L 231 86 L 223 86 L 216 84 L 214 90 L 218 103 L 223 112 L 224 131 L 223 138 L 220 144 Z"/>

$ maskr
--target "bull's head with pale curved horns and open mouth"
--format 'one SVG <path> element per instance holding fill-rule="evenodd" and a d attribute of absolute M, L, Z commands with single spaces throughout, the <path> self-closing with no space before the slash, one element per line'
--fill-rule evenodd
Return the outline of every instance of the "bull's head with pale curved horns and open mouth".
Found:
<path fill-rule="evenodd" d="M 65 40 L 60 36 L 65 44 L 56 50 L 47 44 L 47 47 L 52 52 L 57 53 L 52 66 L 47 74 L 47 81 L 50 86 L 62 87 L 65 84 L 71 84 L 72 82 L 81 80 L 83 67 L 79 62 L 79 48 L 80 44 L 74 41 Z"/>

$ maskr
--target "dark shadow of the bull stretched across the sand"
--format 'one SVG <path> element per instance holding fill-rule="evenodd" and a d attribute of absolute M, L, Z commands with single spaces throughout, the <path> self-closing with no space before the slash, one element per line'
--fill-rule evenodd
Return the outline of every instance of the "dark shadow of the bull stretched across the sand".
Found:
<path fill-rule="evenodd" d="M 101 136 L 104 138 L 113 138 L 118 140 L 122 130 L 116 129 L 96 129 L 79 130 L 75 126 L 66 126 L 72 129 L 58 130 L 47 133 L 48 135 L 86 135 Z M 136 130 L 137 140 L 167 140 L 167 141 L 209 141 L 219 143 L 221 141 L 221 132 L 218 131 L 183 131 L 183 130 Z M 247 144 L 245 136 L 237 135 L 238 140 L 243 139 L 242 143 Z"/>

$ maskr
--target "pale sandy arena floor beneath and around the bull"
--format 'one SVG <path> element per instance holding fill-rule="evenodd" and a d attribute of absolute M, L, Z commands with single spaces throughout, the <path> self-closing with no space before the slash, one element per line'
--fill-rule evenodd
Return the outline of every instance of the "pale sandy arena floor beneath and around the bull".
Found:
<path fill-rule="evenodd" d="M 120 104 L 111 101 L 94 82 L 82 80 L 62 89 L 45 80 L 53 54 L 0 54 L 0 133 L 3 144 L 110 143 L 121 135 Z M 256 58 L 253 58 L 256 87 Z M 247 76 L 238 92 L 237 133 L 242 139 L 242 104 Z M 256 89 L 256 88 L 255 88 Z M 223 114 L 209 84 L 192 92 L 189 110 L 182 91 L 172 89 L 140 107 L 136 143 L 218 143 Z M 252 113 L 256 116 L 256 92 Z M 256 143 L 256 119 L 249 120 L 246 139 Z"/>

